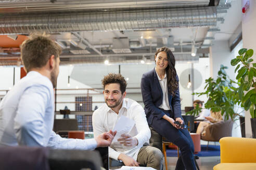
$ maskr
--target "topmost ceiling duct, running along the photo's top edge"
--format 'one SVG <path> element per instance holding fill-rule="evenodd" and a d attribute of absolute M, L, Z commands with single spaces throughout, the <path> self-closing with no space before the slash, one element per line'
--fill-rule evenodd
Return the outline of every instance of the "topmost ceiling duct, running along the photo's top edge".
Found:
<path fill-rule="evenodd" d="M 2 12 L 31 12 L 31 11 L 63 11 L 79 9 L 113 9 L 113 8 L 161 8 L 161 7 L 184 7 L 184 6 L 208 6 L 210 0 L 177 1 L 177 0 L 58 0 L 51 3 L 49 0 L 9 0 L 1 1 Z"/>

